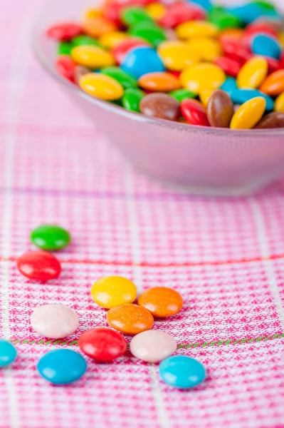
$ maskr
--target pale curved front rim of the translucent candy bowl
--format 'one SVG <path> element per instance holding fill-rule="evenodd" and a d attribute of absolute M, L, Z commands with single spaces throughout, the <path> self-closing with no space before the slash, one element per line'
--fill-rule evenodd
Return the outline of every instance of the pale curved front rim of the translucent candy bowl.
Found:
<path fill-rule="evenodd" d="M 39 18 L 39 16 L 37 17 Z M 52 76 L 58 83 L 63 84 L 66 88 L 73 93 L 76 93 L 78 96 L 85 99 L 90 103 L 93 103 L 95 106 L 104 108 L 107 111 L 111 111 L 112 113 L 117 113 L 119 116 L 124 116 L 134 121 L 142 121 L 151 124 L 152 126 L 160 126 L 162 128 L 172 128 L 179 131 L 184 131 L 186 133 L 204 133 L 206 135 L 214 135 L 214 136 L 240 136 L 240 137 L 252 137 L 252 136 L 284 136 L 284 128 L 263 128 L 263 129 L 231 129 L 231 128 L 216 128 L 209 126 L 197 126 L 190 125 L 189 123 L 175 122 L 169 121 L 167 119 L 162 118 L 152 118 L 151 116 L 146 116 L 142 113 L 135 113 L 134 111 L 129 111 L 126 108 L 115 105 L 115 103 L 110 103 L 110 101 L 100 100 L 99 98 L 95 98 L 90 96 L 88 93 L 85 93 L 80 89 L 79 86 L 74 83 L 68 81 L 67 78 L 64 78 L 60 74 L 57 73 L 56 68 L 54 67 L 54 63 L 51 61 L 47 61 L 46 56 L 43 54 L 43 51 L 40 49 L 40 44 L 38 43 L 38 22 L 36 21 L 33 24 L 31 31 L 31 46 L 33 53 L 36 56 L 38 63 L 43 67 L 47 73 Z M 41 29 L 40 35 L 44 36 L 43 30 Z M 46 38 L 47 39 L 47 38 Z M 51 44 L 55 44 L 53 40 L 50 40 Z"/>

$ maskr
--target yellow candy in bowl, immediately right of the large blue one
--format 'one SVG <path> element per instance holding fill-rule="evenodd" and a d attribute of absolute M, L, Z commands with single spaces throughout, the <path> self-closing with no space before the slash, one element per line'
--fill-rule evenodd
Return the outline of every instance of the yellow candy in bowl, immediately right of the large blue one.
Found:
<path fill-rule="evenodd" d="M 159 45 L 158 54 L 162 58 L 164 66 L 169 70 L 182 71 L 200 61 L 198 51 L 191 49 L 183 41 L 164 41 Z"/>

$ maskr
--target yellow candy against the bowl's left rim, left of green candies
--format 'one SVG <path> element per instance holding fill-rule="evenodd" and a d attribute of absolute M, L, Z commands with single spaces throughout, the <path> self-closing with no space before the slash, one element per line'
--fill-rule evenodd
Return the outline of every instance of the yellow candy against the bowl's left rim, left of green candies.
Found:
<path fill-rule="evenodd" d="M 96 98 L 114 101 L 123 95 L 123 88 L 114 78 L 100 73 L 84 74 L 79 81 L 80 88 Z"/>

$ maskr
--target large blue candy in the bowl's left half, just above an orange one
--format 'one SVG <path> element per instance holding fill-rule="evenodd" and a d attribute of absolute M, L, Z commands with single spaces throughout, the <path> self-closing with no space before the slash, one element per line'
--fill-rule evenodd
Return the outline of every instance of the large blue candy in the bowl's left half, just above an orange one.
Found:
<path fill-rule="evenodd" d="M 131 49 L 125 56 L 121 68 L 135 78 L 154 71 L 165 71 L 164 64 L 153 48 L 139 46 Z"/>

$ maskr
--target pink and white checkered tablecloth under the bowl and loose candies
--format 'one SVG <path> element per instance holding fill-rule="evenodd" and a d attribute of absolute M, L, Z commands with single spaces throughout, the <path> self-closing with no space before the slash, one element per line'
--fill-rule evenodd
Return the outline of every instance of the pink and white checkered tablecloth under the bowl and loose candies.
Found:
<path fill-rule="evenodd" d="M 216 200 L 135 173 L 33 60 L 28 30 L 39 3 L 6 1 L 0 13 L 0 320 L 19 350 L 0 372 L 0 427 L 284 427 L 284 181 Z M 41 223 L 73 236 L 58 253 L 61 277 L 44 285 L 15 263 Z M 157 365 L 129 352 L 108 365 L 88 360 L 68 387 L 38 376 L 44 352 L 78 350 L 80 332 L 107 325 L 90 286 L 110 274 L 182 293 L 182 312 L 155 328 L 206 365 L 206 382 L 174 390 Z M 34 308 L 48 302 L 80 315 L 68 340 L 31 329 Z"/>

